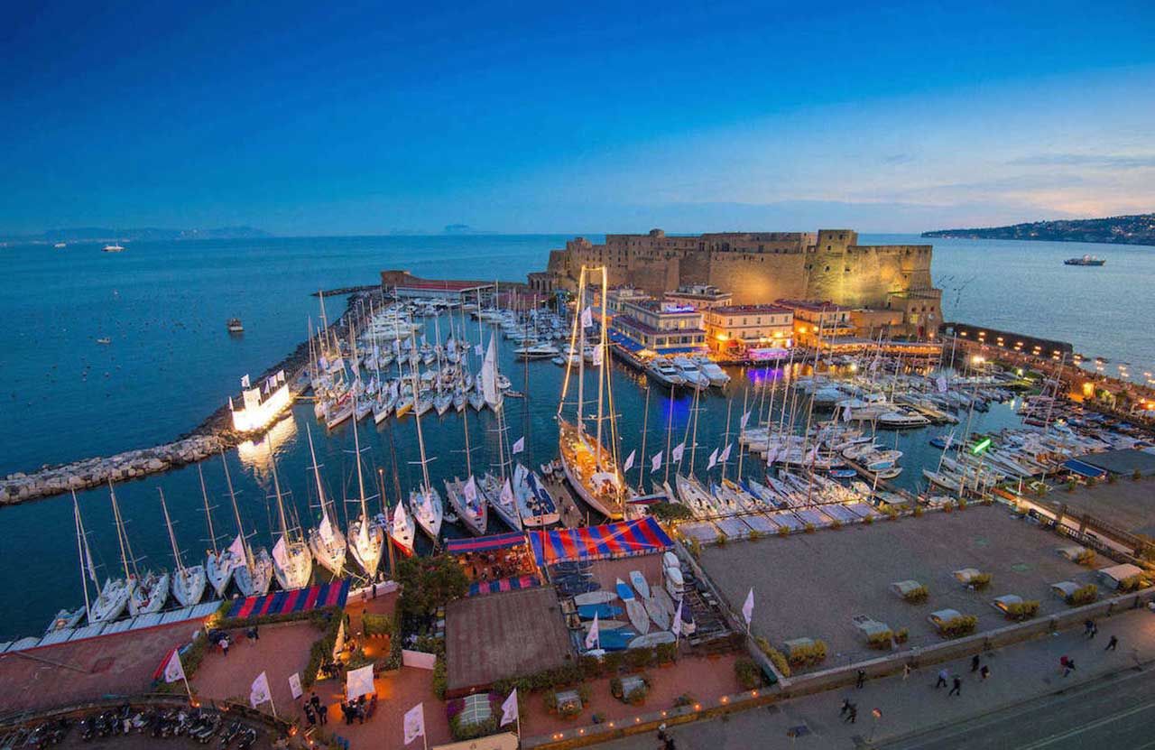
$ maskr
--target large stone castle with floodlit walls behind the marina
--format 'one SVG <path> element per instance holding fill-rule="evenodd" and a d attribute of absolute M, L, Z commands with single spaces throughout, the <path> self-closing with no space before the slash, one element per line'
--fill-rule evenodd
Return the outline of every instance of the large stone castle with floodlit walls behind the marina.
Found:
<path fill-rule="evenodd" d="M 529 275 L 538 291 L 573 290 L 581 267 L 606 266 L 612 285 L 661 296 L 684 284 L 713 284 L 735 304 L 820 299 L 847 307 L 903 310 L 936 317 L 942 296 L 931 283 L 931 245 L 859 245 L 858 232 L 720 232 L 583 237 L 550 251 L 545 273 Z"/>

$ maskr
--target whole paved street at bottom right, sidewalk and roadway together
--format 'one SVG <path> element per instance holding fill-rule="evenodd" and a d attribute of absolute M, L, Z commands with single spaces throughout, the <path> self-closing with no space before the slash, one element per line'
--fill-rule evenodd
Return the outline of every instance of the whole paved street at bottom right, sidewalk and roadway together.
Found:
<path fill-rule="evenodd" d="M 1105 652 L 1111 634 L 1117 651 Z M 1064 677 L 1060 656 L 1078 669 Z M 983 656 L 991 677 L 970 671 L 970 660 L 945 664 L 962 678 L 961 696 L 936 689 L 944 664 L 852 688 L 785 700 L 729 718 L 671 729 L 678 750 L 762 748 L 1155 748 L 1143 726 L 1155 710 L 1155 615 L 1130 611 L 1100 621 L 1094 640 L 1081 629 L 1001 648 Z M 1137 663 L 1143 663 L 1137 669 Z M 857 721 L 842 720 L 843 698 L 858 706 Z M 881 712 L 874 719 L 872 711 Z M 1146 732 L 1145 732 L 1146 729 Z M 795 736 L 791 736 L 795 735 Z M 612 750 L 654 750 L 653 734 L 603 745 Z"/>

